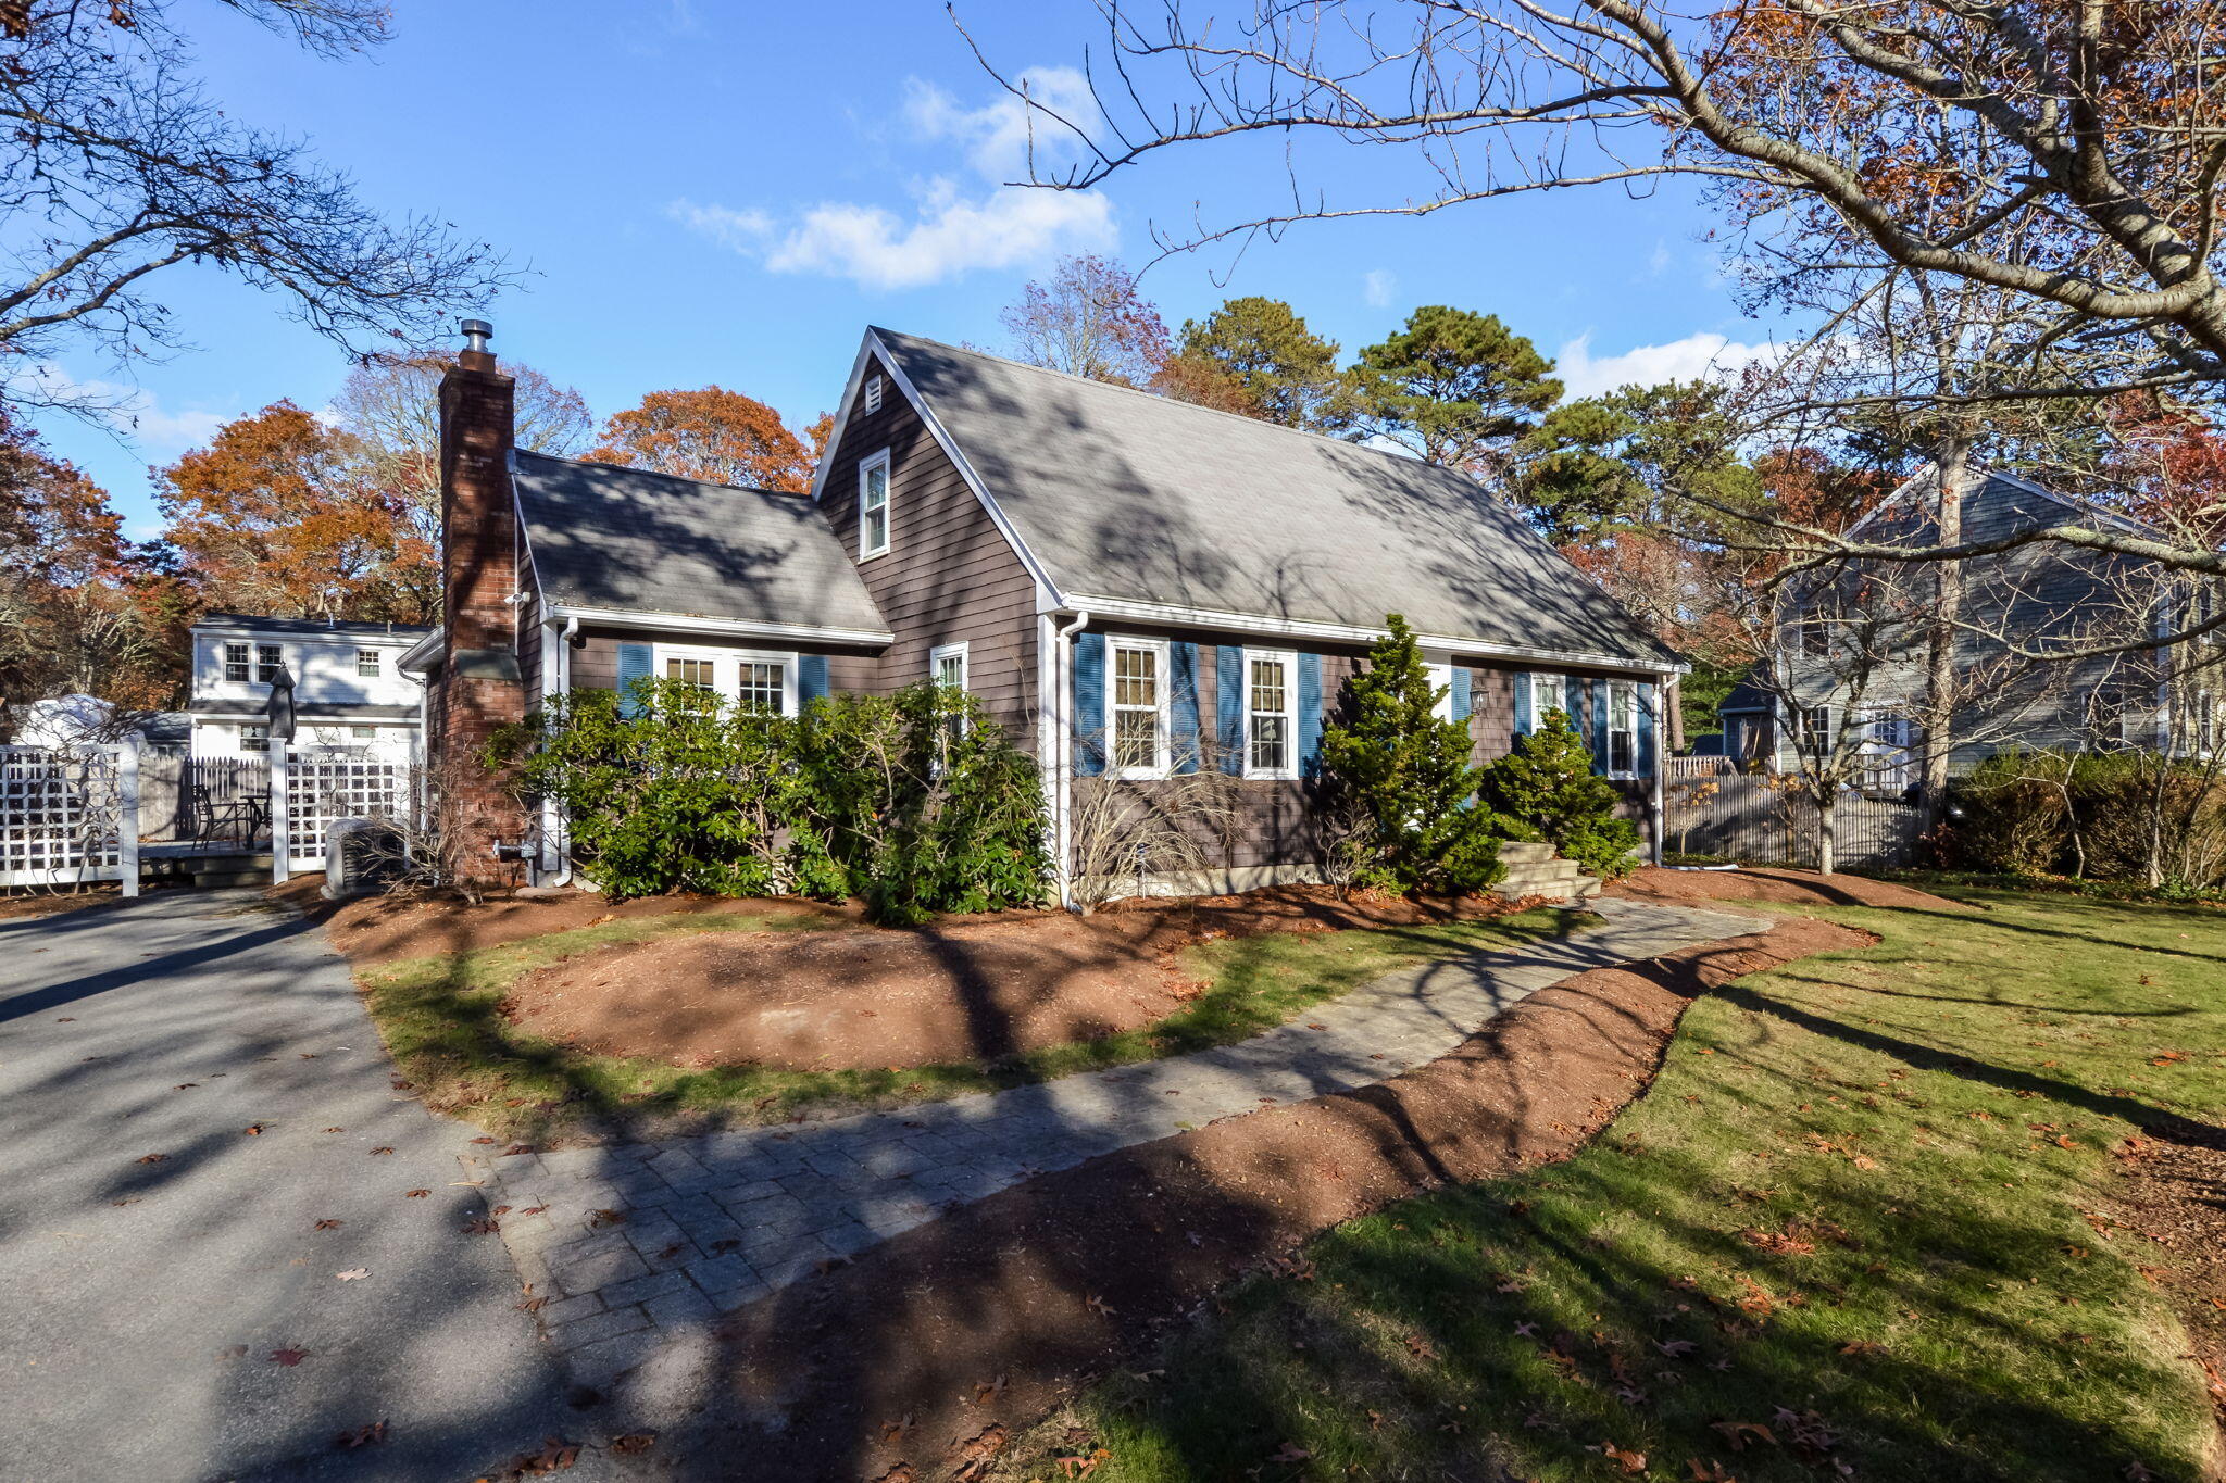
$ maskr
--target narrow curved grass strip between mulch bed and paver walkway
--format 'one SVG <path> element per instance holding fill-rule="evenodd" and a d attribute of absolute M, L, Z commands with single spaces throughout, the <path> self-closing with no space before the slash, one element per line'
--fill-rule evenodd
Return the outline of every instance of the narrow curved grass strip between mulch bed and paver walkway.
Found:
<path fill-rule="evenodd" d="M 1211 987 L 1155 1025 L 1053 1045 L 999 1065 L 897 1072 L 690 1069 L 597 1056 L 525 1034 L 499 1012 L 523 974 L 581 952 L 688 932 L 826 925 L 804 912 L 630 918 L 503 947 L 381 963 L 358 969 L 356 981 L 403 1078 L 427 1107 L 472 1118 L 496 1136 L 545 1141 L 617 1127 L 786 1123 L 801 1112 L 888 1107 L 1178 1056 L 1255 1036 L 1409 963 L 1576 932 L 1589 920 L 1540 909 L 1429 927 L 1224 938 L 1184 949 L 1184 967 Z"/>

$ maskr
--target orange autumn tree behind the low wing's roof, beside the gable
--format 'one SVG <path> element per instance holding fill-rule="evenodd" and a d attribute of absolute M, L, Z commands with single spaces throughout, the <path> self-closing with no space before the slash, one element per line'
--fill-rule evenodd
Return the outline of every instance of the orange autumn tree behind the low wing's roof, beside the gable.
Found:
<path fill-rule="evenodd" d="M 830 429 L 833 420 L 821 416 L 806 434 L 815 447 L 806 447 L 781 414 L 741 391 L 650 391 L 639 407 L 603 422 L 603 440 L 588 460 L 801 494 Z"/>

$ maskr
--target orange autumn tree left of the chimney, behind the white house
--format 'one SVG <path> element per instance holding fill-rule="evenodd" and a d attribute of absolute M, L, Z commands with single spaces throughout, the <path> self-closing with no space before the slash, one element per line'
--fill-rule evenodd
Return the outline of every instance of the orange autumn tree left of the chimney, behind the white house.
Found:
<path fill-rule="evenodd" d="M 405 496 L 294 402 L 225 425 L 154 471 L 156 502 L 209 607 L 280 618 L 432 623 L 441 576 Z"/>

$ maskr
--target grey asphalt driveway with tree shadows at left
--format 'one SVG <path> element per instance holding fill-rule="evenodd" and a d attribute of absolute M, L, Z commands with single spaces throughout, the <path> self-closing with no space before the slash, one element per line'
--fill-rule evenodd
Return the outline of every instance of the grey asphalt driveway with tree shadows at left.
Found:
<path fill-rule="evenodd" d="M 254 892 L 0 923 L 0 1479 L 472 1479 L 583 1439 L 467 1232 L 476 1129 L 390 1074 Z"/>

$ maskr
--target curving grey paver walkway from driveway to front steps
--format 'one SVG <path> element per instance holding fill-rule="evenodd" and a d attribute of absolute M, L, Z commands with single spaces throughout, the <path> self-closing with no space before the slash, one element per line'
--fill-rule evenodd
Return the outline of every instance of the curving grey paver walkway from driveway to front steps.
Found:
<path fill-rule="evenodd" d="M 1238 1045 L 824 1123 L 485 1158 L 503 1241 L 550 1341 L 608 1383 L 821 1263 L 1031 1174 L 1436 1061 L 1572 974 L 1756 929 L 1750 916 L 1596 900 L 1592 932 L 1389 974 Z M 521 1214 L 539 1210 L 539 1214 Z M 619 1212 L 610 1223 L 597 1212 Z"/>

